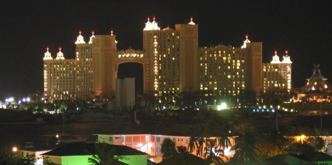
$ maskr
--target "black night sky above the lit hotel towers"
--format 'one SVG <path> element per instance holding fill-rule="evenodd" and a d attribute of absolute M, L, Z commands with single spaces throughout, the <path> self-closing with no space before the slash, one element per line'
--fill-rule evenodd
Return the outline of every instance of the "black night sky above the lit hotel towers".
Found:
<path fill-rule="evenodd" d="M 293 61 L 292 82 L 299 87 L 321 64 L 332 80 L 332 6 L 330 1 L 6 1 L 0 5 L 0 98 L 42 91 L 42 58 L 46 46 L 53 56 L 61 46 L 74 58 L 79 30 L 88 40 L 91 30 L 112 28 L 118 49 L 142 49 L 148 16 L 162 28 L 199 24 L 199 46 L 241 46 L 244 35 L 263 42 L 263 62 L 274 50 L 286 49 Z"/>

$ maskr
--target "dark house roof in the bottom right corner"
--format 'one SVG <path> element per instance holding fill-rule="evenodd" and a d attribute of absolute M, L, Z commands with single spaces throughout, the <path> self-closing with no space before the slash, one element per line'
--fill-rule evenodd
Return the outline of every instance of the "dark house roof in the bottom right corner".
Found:
<path fill-rule="evenodd" d="M 326 161 L 332 162 L 332 156 L 323 152 L 307 152 L 300 155 L 292 155 L 292 156 L 310 162 L 326 162 Z"/>

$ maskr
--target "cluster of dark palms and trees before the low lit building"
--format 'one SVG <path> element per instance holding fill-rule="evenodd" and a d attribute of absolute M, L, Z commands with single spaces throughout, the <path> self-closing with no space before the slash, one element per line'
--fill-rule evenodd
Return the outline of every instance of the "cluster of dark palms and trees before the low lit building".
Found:
<path fill-rule="evenodd" d="M 201 122 L 199 129 L 192 128 L 188 146 L 185 146 L 186 152 L 204 158 L 207 162 L 218 163 L 229 159 L 225 155 L 226 151 L 235 153 L 230 161 L 254 161 L 278 154 L 299 154 L 325 149 L 326 139 L 320 137 L 320 130 L 316 130 L 313 138 L 296 141 L 286 138 L 277 130 L 257 132 L 252 115 L 253 113 L 246 110 L 237 110 L 234 113 L 202 111 L 200 116 L 205 120 Z M 234 139 L 236 142 L 232 145 L 231 141 Z M 179 150 L 176 152 L 171 139 L 163 141 L 161 151 L 165 159 L 180 153 Z"/>

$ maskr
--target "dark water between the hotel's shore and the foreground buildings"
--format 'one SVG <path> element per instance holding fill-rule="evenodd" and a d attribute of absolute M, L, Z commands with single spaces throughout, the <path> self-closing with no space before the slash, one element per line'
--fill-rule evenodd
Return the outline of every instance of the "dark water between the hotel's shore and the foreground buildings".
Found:
<path fill-rule="evenodd" d="M 305 117 L 283 117 L 278 119 L 281 129 L 287 130 L 288 127 L 299 127 L 298 132 L 309 134 L 314 127 L 320 128 L 320 116 Z M 174 127 L 174 129 L 172 129 Z M 101 123 L 73 123 L 65 124 L 64 133 L 74 137 L 87 138 L 88 142 L 94 142 L 96 136 L 92 134 L 143 134 L 143 133 L 163 133 L 160 130 L 185 130 L 190 125 L 181 125 L 181 128 L 171 123 L 156 123 L 154 125 L 136 125 L 130 122 L 101 122 Z M 276 128 L 275 118 L 257 118 L 255 120 L 257 131 L 273 131 Z M 332 116 L 322 116 L 323 130 L 332 131 Z M 187 129 L 188 130 L 188 129 Z M 181 130 L 180 130 L 181 131 Z M 45 135 L 55 135 L 63 133 L 62 124 L 46 123 L 23 123 L 23 124 L 0 124 L 0 147 L 3 145 L 17 145 L 25 142 L 46 144 L 51 138 Z"/>

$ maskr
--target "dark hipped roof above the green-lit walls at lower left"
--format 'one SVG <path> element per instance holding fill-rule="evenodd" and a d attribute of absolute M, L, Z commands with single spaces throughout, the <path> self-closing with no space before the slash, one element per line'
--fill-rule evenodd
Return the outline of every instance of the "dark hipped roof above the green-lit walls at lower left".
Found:
<path fill-rule="evenodd" d="M 106 143 L 70 143 L 62 147 L 53 149 L 49 152 L 43 153 L 42 155 L 47 156 L 77 156 L 77 155 L 92 155 L 97 154 L 96 145 L 103 145 Z M 114 149 L 115 155 L 148 155 L 145 152 L 138 151 L 124 145 L 109 145 Z"/>

